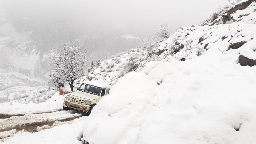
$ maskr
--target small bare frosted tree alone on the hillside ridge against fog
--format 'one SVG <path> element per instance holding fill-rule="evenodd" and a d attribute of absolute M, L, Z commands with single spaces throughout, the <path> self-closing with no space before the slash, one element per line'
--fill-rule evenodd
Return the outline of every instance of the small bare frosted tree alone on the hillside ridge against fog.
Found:
<path fill-rule="evenodd" d="M 153 39 L 164 39 L 169 38 L 170 30 L 167 24 L 160 24 L 160 29 L 155 30 L 155 34 L 153 35 Z"/>

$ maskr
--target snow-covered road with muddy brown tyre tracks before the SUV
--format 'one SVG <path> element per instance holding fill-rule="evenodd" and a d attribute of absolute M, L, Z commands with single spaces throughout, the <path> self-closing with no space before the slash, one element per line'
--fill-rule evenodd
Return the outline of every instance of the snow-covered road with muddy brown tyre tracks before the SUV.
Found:
<path fill-rule="evenodd" d="M 76 137 L 86 117 L 74 110 L 63 111 L 64 97 L 57 92 L 39 104 L 1 103 L 0 142 L 79 143 Z"/>

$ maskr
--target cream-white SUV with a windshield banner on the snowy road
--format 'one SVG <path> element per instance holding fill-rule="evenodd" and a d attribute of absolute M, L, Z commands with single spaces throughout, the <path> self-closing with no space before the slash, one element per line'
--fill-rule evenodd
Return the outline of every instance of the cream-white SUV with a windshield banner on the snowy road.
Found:
<path fill-rule="evenodd" d="M 69 93 L 63 102 L 63 110 L 82 110 L 88 115 L 99 100 L 109 94 L 111 85 L 95 81 L 82 83 L 76 92 Z"/>

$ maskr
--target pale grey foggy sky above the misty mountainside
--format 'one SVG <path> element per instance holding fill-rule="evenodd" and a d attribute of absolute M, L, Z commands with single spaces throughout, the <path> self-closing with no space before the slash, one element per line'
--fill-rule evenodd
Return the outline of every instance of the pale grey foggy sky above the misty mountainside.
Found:
<path fill-rule="evenodd" d="M 19 31 L 20 20 L 74 29 L 122 29 L 127 34 L 151 38 L 160 23 L 177 27 L 198 25 L 226 0 L 2 0 L 7 20 Z M 58 21 L 58 22 L 55 22 Z M 29 23 L 28 23 L 29 25 Z"/>

